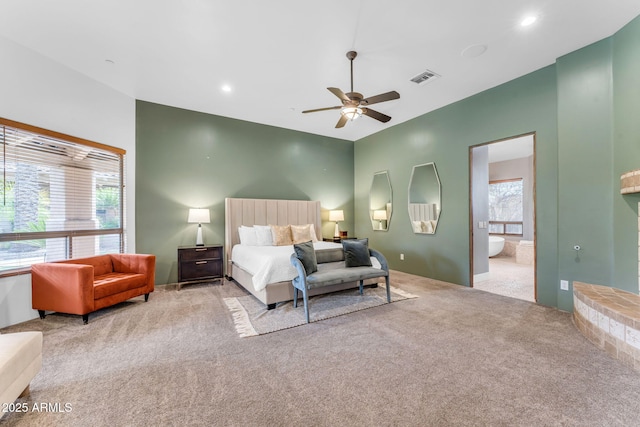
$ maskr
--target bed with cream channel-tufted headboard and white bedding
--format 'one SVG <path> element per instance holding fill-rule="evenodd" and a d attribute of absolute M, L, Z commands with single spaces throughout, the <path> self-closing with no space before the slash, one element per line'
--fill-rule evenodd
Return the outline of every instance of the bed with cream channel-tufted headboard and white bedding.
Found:
<path fill-rule="evenodd" d="M 318 242 L 314 243 L 316 249 L 340 248 L 341 245 L 333 242 L 322 241 L 322 221 L 320 217 L 320 202 L 305 200 L 276 200 L 276 199 L 225 199 L 225 275 L 235 281 L 244 289 L 253 294 L 258 300 L 267 305 L 269 309 L 275 308 L 279 302 L 293 300 L 293 286 L 291 279 L 296 271 L 290 265 L 289 256 L 293 253 L 292 246 L 273 246 L 276 252 L 280 252 L 279 263 L 286 262 L 291 268 L 290 277 L 278 274 L 260 272 L 260 267 L 247 266 L 246 258 L 259 258 L 261 252 L 268 251 L 268 247 L 261 247 L 258 252 L 243 254 L 245 260 L 239 258 L 242 251 L 238 228 L 241 226 L 253 227 L 255 225 L 306 225 L 313 224 Z M 244 246 L 244 245 L 240 245 Z M 235 251 L 234 251 L 235 248 Z M 235 255 L 234 255 L 235 252 Z M 236 256 L 236 260 L 234 260 Z M 244 265 L 244 267 L 243 267 Z M 260 277 L 254 276 L 259 275 Z M 267 277 L 263 277 L 267 276 Z M 267 283 L 264 283 L 266 281 Z M 371 279 L 367 284 L 377 283 Z M 334 292 L 342 289 L 358 287 L 357 282 L 345 283 L 336 286 L 328 286 L 317 289 L 316 293 Z"/>

